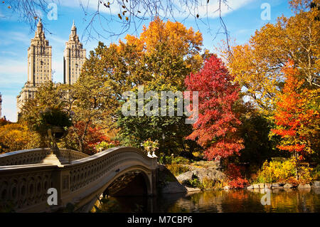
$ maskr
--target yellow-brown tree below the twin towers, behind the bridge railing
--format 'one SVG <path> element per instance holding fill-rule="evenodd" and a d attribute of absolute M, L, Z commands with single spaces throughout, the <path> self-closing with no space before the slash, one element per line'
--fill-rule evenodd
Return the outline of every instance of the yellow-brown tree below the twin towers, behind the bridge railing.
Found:
<path fill-rule="evenodd" d="M 73 126 L 69 130 L 69 141 L 61 144 L 69 149 L 76 148 L 80 152 L 92 154 L 92 147 L 88 147 L 87 144 L 90 144 L 90 141 L 101 142 L 104 138 L 103 132 L 95 128 L 95 124 L 103 122 L 107 116 L 104 87 L 101 86 L 103 83 L 103 80 L 88 77 L 81 78 L 81 83 L 75 85 L 55 85 L 48 82 L 38 88 L 36 97 L 28 100 L 23 106 L 20 121 L 26 123 L 30 130 L 34 130 L 41 112 L 48 109 L 68 112 L 68 115 L 73 116 Z M 40 141 L 39 146 L 48 147 L 48 138 L 43 134 L 39 136 L 40 138 L 33 137 L 36 139 L 33 142 L 34 146 Z"/>

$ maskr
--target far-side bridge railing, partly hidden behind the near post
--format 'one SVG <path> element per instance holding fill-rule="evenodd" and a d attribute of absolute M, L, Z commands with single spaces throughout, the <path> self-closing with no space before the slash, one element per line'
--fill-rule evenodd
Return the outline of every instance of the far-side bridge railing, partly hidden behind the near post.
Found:
<path fill-rule="evenodd" d="M 59 149 L 60 155 L 70 161 L 82 159 L 89 155 L 72 149 Z M 24 149 L 16 152 L 0 154 L 0 166 L 11 166 L 21 164 L 36 164 L 41 162 L 46 155 L 50 154 L 50 148 Z"/>

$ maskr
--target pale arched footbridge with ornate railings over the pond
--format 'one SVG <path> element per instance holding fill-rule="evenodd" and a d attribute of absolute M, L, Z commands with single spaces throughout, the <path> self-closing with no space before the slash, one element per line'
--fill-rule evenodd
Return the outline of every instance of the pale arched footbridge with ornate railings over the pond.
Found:
<path fill-rule="evenodd" d="M 55 212 L 73 204 L 88 212 L 102 194 L 156 194 L 156 157 L 132 147 L 113 147 L 92 156 L 60 149 L 60 165 L 41 164 L 50 149 L 27 149 L 0 155 L 0 209 Z M 57 203 L 48 204 L 48 189 Z M 53 194 L 52 194 L 53 195 Z"/>

